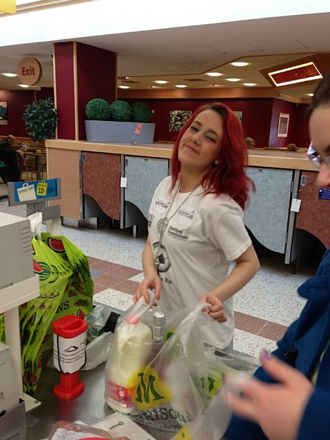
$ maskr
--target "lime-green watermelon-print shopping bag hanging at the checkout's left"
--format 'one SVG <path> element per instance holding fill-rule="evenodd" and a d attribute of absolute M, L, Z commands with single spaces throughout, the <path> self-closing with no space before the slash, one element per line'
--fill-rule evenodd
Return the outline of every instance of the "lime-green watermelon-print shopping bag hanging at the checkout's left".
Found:
<path fill-rule="evenodd" d="M 94 292 L 87 256 L 71 241 L 45 233 L 41 240 L 33 239 L 32 246 L 41 295 L 20 308 L 25 393 L 36 390 L 42 354 L 52 349 L 52 322 L 62 316 L 89 314 Z"/>

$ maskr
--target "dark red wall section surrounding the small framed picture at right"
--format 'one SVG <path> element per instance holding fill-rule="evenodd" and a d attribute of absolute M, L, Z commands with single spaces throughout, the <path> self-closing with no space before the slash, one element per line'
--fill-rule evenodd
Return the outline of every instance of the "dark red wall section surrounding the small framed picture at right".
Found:
<path fill-rule="evenodd" d="M 306 104 L 294 104 L 294 102 L 274 99 L 272 122 L 270 124 L 270 147 L 285 147 L 290 143 L 294 143 L 298 147 L 307 147 L 309 145 L 308 122 L 305 118 L 306 108 Z M 290 115 L 287 137 L 277 137 L 280 113 L 288 113 Z"/>

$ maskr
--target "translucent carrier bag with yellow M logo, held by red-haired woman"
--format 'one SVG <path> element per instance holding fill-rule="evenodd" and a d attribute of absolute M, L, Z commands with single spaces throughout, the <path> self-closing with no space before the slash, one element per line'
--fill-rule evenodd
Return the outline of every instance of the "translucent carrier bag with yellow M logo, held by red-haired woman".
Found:
<path fill-rule="evenodd" d="M 132 323 L 137 316 L 141 320 L 148 307 L 142 298 L 115 329 L 106 366 L 106 398 L 108 404 L 115 399 L 112 407 L 137 423 L 177 432 L 197 418 L 208 400 L 206 358 L 198 331 L 198 321 L 206 320 L 201 311 L 205 304 L 197 305 L 176 328 L 170 322 L 173 334 L 160 350 L 146 329 L 135 332 Z M 130 331 L 132 337 L 123 340 L 122 335 Z M 120 371 L 120 377 L 115 377 L 115 371 Z"/>

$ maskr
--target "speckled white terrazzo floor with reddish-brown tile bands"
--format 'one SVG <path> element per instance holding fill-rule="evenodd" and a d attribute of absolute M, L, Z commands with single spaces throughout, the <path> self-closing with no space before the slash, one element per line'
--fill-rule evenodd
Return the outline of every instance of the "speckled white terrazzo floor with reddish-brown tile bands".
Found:
<path fill-rule="evenodd" d="M 0 185 L 0 195 L 5 186 Z M 25 207 L 8 206 L 0 201 L 0 212 L 25 217 Z M 92 230 L 63 227 L 63 234 L 89 256 L 94 278 L 94 299 L 113 309 L 126 310 L 143 279 L 141 256 L 145 238 L 133 239 L 121 230 Z M 263 348 L 274 349 L 276 340 L 300 314 L 305 300 L 297 288 L 314 268 L 290 274 L 283 256 L 263 250 L 259 254 L 261 270 L 241 292 L 234 296 L 234 350 L 258 355 Z"/>

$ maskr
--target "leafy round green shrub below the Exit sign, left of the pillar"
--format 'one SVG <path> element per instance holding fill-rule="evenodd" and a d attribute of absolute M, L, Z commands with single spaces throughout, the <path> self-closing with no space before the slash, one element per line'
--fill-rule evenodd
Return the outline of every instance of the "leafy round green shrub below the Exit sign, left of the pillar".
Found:
<path fill-rule="evenodd" d="M 57 113 L 52 98 L 41 99 L 25 106 L 25 131 L 34 142 L 55 137 Z"/>

